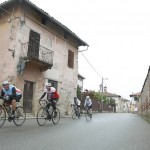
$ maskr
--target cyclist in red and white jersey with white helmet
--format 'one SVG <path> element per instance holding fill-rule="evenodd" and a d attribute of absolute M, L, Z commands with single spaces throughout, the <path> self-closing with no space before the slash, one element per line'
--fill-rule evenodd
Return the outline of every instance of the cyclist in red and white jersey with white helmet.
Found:
<path fill-rule="evenodd" d="M 57 93 L 56 89 L 51 86 L 50 83 L 46 83 L 45 87 L 46 88 L 40 100 L 47 94 L 47 100 L 51 102 L 53 109 L 56 110 L 56 102 L 58 102 L 59 100 L 59 94 Z M 48 109 L 49 107 L 50 107 L 50 104 L 47 105 Z"/>

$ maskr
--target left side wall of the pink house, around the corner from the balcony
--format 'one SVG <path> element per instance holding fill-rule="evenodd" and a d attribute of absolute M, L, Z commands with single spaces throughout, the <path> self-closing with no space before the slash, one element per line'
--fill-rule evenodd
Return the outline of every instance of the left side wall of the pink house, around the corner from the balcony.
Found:
<path fill-rule="evenodd" d="M 15 65 L 12 52 L 9 49 L 14 49 L 11 43 L 11 23 L 8 22 L 10 16 L 5 14 L 0 19 L 0 82 L 10 79 L 14 76 Z"/>

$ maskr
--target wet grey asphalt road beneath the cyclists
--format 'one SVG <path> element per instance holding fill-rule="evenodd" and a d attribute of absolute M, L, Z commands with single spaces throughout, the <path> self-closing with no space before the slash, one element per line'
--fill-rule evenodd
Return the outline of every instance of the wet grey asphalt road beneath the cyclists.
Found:
<path fill-rule="evenodd" d="M 93 114 L 59 124 L 38 126 L 27 119 L 21 127 L 0 128 L 0 150 L 150 150 L 150 124 L 136 114 Z"/>

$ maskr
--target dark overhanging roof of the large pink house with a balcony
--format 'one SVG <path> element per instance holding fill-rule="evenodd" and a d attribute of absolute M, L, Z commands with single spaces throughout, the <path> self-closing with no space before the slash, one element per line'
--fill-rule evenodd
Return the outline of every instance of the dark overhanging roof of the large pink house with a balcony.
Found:
<path fill-rule="evenodd" d="M 26 5 L 30 6 L 32 9 L 36 10 L 38 13 L 40 13 L 41 15 L 43 15 L 44 17 L 49 19 L 51 22 L 53 22 L 54 24 L 59 26 L 61 29 L 63 29 L 66 33 L 70 34 L 73 38 L 75 38 L 78 41 L 78 46 L 89 46 L 86 42 L 84 42 L 82 39 L 80 39 L 74 32 L 72 32 L 69 28 L 67 28 L 65 25 L 60 23 L 58 20 L 56 20 L 55 18 L 50 16 L 48 13 L 46 13 L 44 10 L 37 7 L 35 4 L 33 4 L 29 0 L 8 0 L 8 1 L 1 3 L 0 7 L 4 8 L 4 7 L 6 7 L 8 5 L 12 5 L 14 3 L 18 3 L 21 5 L 26 4 Z"/>

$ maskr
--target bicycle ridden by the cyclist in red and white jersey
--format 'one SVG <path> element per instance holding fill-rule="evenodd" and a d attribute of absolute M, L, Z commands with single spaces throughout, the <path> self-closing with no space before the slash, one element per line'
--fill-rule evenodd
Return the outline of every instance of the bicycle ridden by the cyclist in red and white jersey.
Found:
<path fill-rule="evenodd" d="M 42 102 L 44 102 L 42 104 Z M 55 103 L 57 103 L 55 101 Z M 40 126 L 44 126 L 46 121 L 49 120 L 53 122 L 53 124 L 57 124 L 60 120 L 60 111 L 58 108 L 56 110 L 53 109 L 51 106 L 51 102 L 48 100 L 39 100 L 39 104 L 42 106 L 37 113 L 37 123 Z M 48 108 L 47 105 L 50 104 L 50 107 Z"/>

